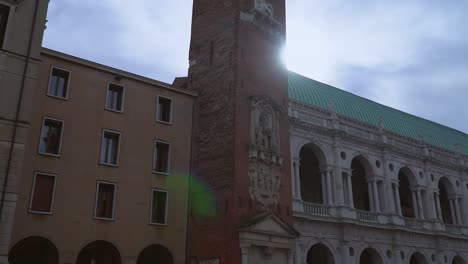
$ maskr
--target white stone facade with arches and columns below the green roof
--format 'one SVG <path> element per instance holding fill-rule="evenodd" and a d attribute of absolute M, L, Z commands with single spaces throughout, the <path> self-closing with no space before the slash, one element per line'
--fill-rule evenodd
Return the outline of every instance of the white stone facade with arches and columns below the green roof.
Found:
<path fill-rule="evenodd" d="M 289 116 L 294 227 L 301 233 L 296 263 L 310 263 L 317 245 L 333 256 L 326 263 L 466 263 L 468 157 L 392 134 L 384 120 L 373 127 L 339 117 L 333 107 L 290 101 Z M 300 175 L 305 148 L 318 160 L 317 175 Z M 352 184 L 353 160 L 365 167 L 367 189 Z M 412 217 L 403 216 L 400 173 L 409 179 Z M 322 203 L 303 200 L 304 177 L 322 180 Z M 439 184 L 445 184 L 451 218 L 442 215 Z M 355 207 L 356 193 L 366 193 L 368 210 Z M 363 260 L 366 249 L 372 262 Z"/>

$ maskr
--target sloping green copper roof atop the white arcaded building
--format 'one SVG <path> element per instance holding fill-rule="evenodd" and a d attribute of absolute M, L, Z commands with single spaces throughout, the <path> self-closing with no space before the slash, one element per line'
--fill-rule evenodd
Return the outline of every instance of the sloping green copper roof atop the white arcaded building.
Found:
<path fill-rule="evenodd" d="M 289 72 L 289 98 L 326 110 L 329 110 L 330 101 L 333 100 L 338 115 L 374 126 L 379 126 L 380 118 L 383 117 L 384 127 L 388 131 L 413 139 L 418 139 L 419 131 L 422 131 L 427 144 L 451 151 L 455 150 L 456 144 L 461 144 L 462 153 L 468 155 L 468 135 L 463 132 L 381 105 L 293 72 Z"/>

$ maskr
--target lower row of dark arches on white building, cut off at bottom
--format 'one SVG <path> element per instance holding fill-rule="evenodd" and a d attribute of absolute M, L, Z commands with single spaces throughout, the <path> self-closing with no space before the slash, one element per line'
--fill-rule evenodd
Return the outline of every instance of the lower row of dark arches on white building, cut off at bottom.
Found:
<path fill-rule="evenodd" d="M 350 251 L 353 252 L 354 250 Z M 351 253 L 350 253 L 351 254 Z M 354 256 L 354 252 L 352 253 L 352 257 L 358 257 L 357 262 L 358 264 L 384 264 L 383 256 L 372 247 L 365 248 L 360 252 L 359 255 Z M 401 256 L 392 256 L 391 253 L 387 254 L 387 258 L 391 257 L 401 257 L 401 263 L 409 263 L 409 264 L 428 264 L 429 261 L 424 256 L 424 254 L 420 252 L 414 252 L 408 259 L 404 255 Z M 345 260 L 343 260 L 345 261 Z M 306 254 L 306 261 L 307 264 L 335 264 L 340 263 L 340 260 L 335 260 L 335 256 L 333 255 L 330 248 L 322 243 L 317 243 L 310 247 Z M 392 262 L 393 263 L 393 262 Z M 451 262 L 446 262 L 451 264 L 466 264 L 465 260 L 460 256 L 454 256 Z"/>

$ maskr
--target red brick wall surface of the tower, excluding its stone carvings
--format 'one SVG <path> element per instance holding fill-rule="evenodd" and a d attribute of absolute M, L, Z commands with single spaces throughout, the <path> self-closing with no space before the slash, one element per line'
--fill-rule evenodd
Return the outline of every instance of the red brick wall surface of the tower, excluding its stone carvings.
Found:
<path fill-rule="evenodd" d="M 195 0 L 188 87 L 199 92 L 195 122 L 194 171 L 213 193 L 216 217 L 193 213 L 190 255 L 240 263 L 237 226 L 261 212 L 249 195 L 248 97 L 265 95 L 282 108 L 280 118 L 281 193 L 270 208 L 291 223 L 291 175 L 287 118 L 287 71 L 280 61 L 284 45 L 284 0 L 271 0 L 281 37 L 240 20 L 254 0 Z M 195 193 L 194 202 L 197 202 Z"/>

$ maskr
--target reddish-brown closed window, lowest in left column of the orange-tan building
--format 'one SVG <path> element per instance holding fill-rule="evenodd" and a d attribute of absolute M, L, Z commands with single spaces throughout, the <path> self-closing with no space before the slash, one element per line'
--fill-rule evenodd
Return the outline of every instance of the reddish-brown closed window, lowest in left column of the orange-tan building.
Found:
<path fill-rule="evenodd" d="M 52 200 L 54 196 L 55 177 L 43 174 L 36 175 L 34 183 L 33 197 L 31 201 L 31 211 L 52 212 Z"/>

